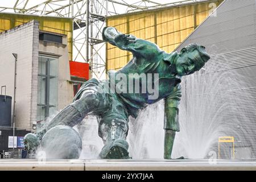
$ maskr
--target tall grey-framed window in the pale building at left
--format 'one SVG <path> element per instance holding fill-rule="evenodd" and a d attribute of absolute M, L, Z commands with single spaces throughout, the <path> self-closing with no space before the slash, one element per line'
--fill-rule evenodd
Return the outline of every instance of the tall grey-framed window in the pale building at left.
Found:
<path fill-rule="evenodd" d="M 57 111 L 58 58 L 39 55 L 38 64 L 38 114 L 42 121 Z"/>

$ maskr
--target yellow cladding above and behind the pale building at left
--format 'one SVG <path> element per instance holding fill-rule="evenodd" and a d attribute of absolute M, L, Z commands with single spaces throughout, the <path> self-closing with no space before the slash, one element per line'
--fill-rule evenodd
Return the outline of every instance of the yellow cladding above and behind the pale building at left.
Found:
<path fill-rule="evenodd" d="M 72 60 L 73 20 L 71 18 L 0 13 L 0 32 L 30 22 L 31 20 L 39 21 L 40 30 L 67 35 L 69 60 Z"/>

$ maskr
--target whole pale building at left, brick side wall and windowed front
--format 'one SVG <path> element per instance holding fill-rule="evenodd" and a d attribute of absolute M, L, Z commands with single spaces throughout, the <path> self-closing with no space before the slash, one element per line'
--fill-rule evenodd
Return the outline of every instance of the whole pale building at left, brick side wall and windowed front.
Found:
<path fill-rule="evenodd" d="M 67 36 L 40 31 L 35 20 L 0 34 L 0 73 L 17 127 L 35 131 L 36 123 L 72 102 Z"/>

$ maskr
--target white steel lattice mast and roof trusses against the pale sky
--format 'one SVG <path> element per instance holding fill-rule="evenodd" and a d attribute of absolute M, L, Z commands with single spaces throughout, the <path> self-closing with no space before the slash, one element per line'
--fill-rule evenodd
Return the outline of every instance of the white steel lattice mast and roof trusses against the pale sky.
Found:
<path fill-rule="evenodd" d="M 200 1 L 200 0 L 198 0 Z M 196 0 L 13 0 L 0 3 L 0 13 L 73 18 L 73 61 L 90 64 L 90 77 L 105 78 L 105 43 L 101 32 L 107 16 L 197 2 Z M 2 2 L 3 3 L 3 2 Z M 13 4 L 14 3 L 14 4 Z"/>

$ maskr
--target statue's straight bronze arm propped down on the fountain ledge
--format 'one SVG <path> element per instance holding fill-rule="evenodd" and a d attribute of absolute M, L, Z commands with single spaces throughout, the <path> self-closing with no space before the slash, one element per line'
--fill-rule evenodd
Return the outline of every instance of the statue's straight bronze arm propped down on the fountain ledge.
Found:
<path fill-rule="evenodd" d="M 175 132 L 180 131 L 179 103 L 181 97 L 180 85 L 174 88 L 173 94 L 164 103 L 164 159 L 171 159 Z"/>

